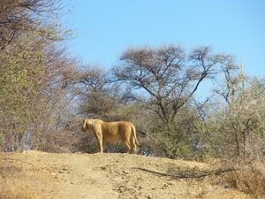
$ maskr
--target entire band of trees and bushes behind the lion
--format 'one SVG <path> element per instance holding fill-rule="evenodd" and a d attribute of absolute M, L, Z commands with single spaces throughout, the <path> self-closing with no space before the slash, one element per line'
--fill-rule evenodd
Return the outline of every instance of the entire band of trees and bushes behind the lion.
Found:
<path fill-rule="evenodd" d="M 136 126 L 143 155 L 263 161 L 264 78 L 210 46 L 175 43 L 128 47 L 107 69 L 84 65 L 64 45 L 71 31 L 59 26 L 61 6 L 0 1 L 0 149 L 93 153 L 81 119 L 123 119 Z M 205 84 L 210 92 L 200 98 Z"/>

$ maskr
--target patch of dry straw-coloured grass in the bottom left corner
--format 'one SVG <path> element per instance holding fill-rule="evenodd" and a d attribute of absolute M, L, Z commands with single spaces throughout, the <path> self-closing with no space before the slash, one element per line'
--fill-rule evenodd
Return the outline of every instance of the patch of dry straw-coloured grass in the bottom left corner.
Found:
<path fill-rule="evenodd" d="M 49 187 L 48 179 L 38 175 L 31 165 L 25 169 L 20 164 L 0 159 L 1 199 L 57 198 L 57 189 Z"/>

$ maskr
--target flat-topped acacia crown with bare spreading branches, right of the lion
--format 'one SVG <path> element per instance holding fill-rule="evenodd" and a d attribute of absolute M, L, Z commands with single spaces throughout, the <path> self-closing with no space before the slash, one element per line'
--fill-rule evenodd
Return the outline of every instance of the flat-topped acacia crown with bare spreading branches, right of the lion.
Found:
<path fill-rule="evenodd" d="M 182 46 L 174 44 L 129 47 L 112 72 L 132 90 L 143 90 L 143 94 L 135 92 L 133 99 L 146 103 L 167 124 L 176 119 L 201 82 L 215 79 L 218 67 L 232 58 L 213 54 L 209 46 L 195 47 L 188 55 Z"/>

